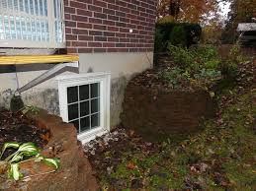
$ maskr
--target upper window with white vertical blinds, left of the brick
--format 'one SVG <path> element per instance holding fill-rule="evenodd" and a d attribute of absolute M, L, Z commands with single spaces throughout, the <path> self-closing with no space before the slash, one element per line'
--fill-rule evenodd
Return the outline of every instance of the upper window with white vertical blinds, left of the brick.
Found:
<path fill-rule="evenodd" d="M 62 0 L 0 0 L 0 47 L 65 46 Z"/>

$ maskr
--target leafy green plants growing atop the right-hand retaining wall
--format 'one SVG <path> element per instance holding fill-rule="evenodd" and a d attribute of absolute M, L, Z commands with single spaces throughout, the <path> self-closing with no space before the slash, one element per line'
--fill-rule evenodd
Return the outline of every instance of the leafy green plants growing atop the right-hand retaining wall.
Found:
<path fill-rule="evenodd" d="M 161 76 L 174 88 L 187 83 L 193 87 L 209 90 L 221 79 L 220 58 L 211 45 L 183 48 L 169 44 L 170 54 L 179 68 L 162 72 Z"/>

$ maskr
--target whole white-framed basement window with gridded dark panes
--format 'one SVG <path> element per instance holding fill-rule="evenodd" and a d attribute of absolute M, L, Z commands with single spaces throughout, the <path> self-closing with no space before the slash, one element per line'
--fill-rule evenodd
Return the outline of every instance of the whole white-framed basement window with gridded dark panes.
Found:
<path fill-rule="evenodd" d="M 110 74 L 57 77 L 60 115 L 73 123 L 83 143 L 110 129 Z"/>

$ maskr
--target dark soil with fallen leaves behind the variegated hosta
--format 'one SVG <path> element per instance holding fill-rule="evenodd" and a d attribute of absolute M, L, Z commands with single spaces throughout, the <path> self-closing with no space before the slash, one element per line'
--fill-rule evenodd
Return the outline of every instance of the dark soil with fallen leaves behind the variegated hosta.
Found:
<path fill-rule="evenodd" d="M 48 137 L 49 131 L 36 127 L 29 117 L 0 108 L 0 148 L 6 142 L 33 142 L 39 148 L 43 148 L 48 142 Z M 7 150 L 3 159 L 13 152 L 11 149 Z"/>

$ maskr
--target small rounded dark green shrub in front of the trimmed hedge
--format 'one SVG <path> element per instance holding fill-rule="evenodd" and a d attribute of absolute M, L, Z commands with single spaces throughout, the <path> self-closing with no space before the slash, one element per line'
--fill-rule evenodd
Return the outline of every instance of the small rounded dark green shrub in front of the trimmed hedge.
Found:
<path fill-rule="evenodd" d="M 187 45 L 187 36 L 184 27 L 175 26 L 170 33 L 169 43 L 175 46 L 185 47 Z"/>

